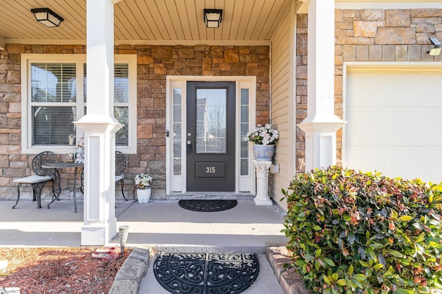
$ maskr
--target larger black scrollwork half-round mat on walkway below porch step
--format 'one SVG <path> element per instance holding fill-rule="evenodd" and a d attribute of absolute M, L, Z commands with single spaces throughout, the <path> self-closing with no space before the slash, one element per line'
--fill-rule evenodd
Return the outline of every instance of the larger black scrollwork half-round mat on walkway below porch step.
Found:
<path fill-rule="evenodd" d="M 159 253 L 157 281 L 170 293 L 237 294 L 259 273 L 254 253 Z"/>

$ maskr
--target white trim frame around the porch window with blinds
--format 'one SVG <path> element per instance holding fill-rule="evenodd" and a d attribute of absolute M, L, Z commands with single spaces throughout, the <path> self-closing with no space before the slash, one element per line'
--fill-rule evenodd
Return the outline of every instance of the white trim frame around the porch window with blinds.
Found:
<path fill-rule="evenodd" d="M 125 154 L 137 153 L 137 56 L 135 54 L 118 54 L 114 57 L 115 63 L 128 63 L 129 78 L 129 103 L 128 103 L 128 146 L 116 146 L 117 151 Z M 30 107 L 30 64 L 31 63 L 76 63 L 77 68 L 82 68 L 86 63 L 86 54 L 21 54 L 21 153 L 37 154 L 50 150 L 56 154 L 68 154 L 75 146 L 61 145 L 39 145 L 32 146 L 32 114 Z M 80 65 L 80 67 L 79 67 Z M 83 105 L 84 97 L 83 76 L 77 71 L 77 96 L 81 101 L 77 103 Z M 114 103 L 119 106 L 120 103 Z M 78 108 L 78 105 L 77 105 Z M 77 110 L 77 120 L 81 118 L 83 107 Z M 84 136 L 84 132 L 77 127 L 77 138 Z"/>

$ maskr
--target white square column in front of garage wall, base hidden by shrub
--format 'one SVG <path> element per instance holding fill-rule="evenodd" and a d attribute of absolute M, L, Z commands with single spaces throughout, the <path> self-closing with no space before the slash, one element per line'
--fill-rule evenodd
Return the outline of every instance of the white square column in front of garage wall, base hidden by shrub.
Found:
<path fill-rule="evenodd" d="M 307 118 L 305 170 L 336 164 L 336 131 L 345 122 L 334 114 L 334 1 L 308 2 Z"/>

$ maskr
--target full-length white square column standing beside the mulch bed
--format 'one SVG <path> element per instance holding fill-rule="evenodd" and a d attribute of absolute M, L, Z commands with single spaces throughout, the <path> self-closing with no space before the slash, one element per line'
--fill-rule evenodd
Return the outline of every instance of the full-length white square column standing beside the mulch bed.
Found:
<path fill-rule="evenodd" d="M 87 115 L 84 130 L 84 224 L 81 245 L 104 245 L 117 234 L 113 117 L 113 1 L 86 1 Z"/>

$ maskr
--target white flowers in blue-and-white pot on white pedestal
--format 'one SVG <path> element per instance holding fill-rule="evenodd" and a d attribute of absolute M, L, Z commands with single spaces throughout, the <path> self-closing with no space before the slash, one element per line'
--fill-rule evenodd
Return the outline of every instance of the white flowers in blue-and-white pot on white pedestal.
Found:
<path fill-rule="evenodd" d="M 253 155 L 257 161 L 271 161 L 275 154 L 275 144 L 279 138 L 279 132 L 273 129 L 271 124 L 256 125 L 251 132 L 247 133 L 247 140 L 253 142 Z"/>

